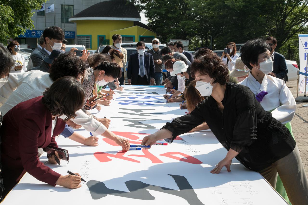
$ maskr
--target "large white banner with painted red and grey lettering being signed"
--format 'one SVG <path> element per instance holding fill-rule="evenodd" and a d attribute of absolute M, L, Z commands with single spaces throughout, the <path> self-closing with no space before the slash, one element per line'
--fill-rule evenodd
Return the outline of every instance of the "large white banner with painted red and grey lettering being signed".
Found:
<path fill-rule="evenodd" d="M 159 130 L 166 122 L 185 115 L 179 103 L 166 103 L 163 86 L 124 86 L 117 91 L 111 106 L 92 110 L 97 117 L 111 119 L 109 130 L 141 144 L 144 136 Z M 77 130 L 90 136 L 83 128 Z M 287 204 L 254 171 L 236 159 L 231 172 L 210 171 L 227 153 L 211 131 L 178 136 L 167 146 L 153 145 L 149 150 L 122 152 L 119 146 L 99 136 L 98 147 L 80 145 L 60 136 L 61 148 L 69 151 L 69 163 L 47 166 L 67 175 L 79 172 L 82 187 L 52 187 L 26 174 L 3 204 Z M 163 140 L 160 142 L 164 142 Z M 45 154 L 42 161 L 47 161 Z"/>

